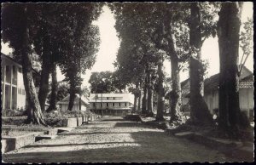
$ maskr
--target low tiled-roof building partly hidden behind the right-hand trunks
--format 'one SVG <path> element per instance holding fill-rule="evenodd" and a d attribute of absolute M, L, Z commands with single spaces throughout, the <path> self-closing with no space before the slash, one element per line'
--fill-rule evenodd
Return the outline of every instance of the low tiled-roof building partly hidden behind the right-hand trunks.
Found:
<path fill-rule="evenodd" d="M 206 101 L 210 112 L 213 114 L 218 111 L 218 77 L 219 74 L 209 77 L 204 82 L 204 100 Z M 246 111 L 247 117 L 253 120 L 253 72 L 244 67 L 239 77 L 239 104 L 241 111 Z M 189 105 L 189 79 L 181 83 L 182 86 L 182 105 Z"/>

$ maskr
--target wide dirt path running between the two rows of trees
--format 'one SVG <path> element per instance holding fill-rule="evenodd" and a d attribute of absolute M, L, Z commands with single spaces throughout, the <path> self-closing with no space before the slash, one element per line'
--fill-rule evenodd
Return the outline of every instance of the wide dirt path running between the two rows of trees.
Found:
<path fill-rule="evenodd" d="M 3 154 L 3 162 L 234 162 L 218 151 L 141 122 L 104 117 Z"/>

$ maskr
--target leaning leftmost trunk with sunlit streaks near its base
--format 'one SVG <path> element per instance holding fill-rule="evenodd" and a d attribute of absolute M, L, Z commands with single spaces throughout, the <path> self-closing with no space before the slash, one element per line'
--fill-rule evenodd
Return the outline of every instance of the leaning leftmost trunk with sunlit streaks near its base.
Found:
<path fill-rule="evenodd" d="M 33 83 L 32 77 L 32 59 L 29 54 L 30 44 L 29 44 L 29 29 L 27 28 L 27 15 L 26 15 L 26 7 L 24 9 L 25 14 L 25 22 L 24 22 L 24 29 L 22 27 L 21 30 L 23 31 L 23 35 L 20 43 L 22 46 L 20 48 L 20 54 L 22 56 L 22 71 L 23 71 L 23 80 L 24 86 L 26 90 L 26 100 L 28 103 L 28 116 L 27 116 L 27 123 L 34 123 L 46 126 L 44 122 L 44 117 L 41 111 L 41 107 L 38 101 L 38 94 L 36 92 L 35 85 Z"/>

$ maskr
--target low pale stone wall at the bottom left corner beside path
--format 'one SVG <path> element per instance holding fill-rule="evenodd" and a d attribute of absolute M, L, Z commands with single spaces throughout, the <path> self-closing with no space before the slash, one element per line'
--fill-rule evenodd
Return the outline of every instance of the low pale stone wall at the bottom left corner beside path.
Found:
<path fill-rule="evenodd" d="M 14 151 L 25 145 L 30 145 L 35 142 L 35 138 L 38 135 L 44 134 L 44 132 L 33 132 L 31 134 L 25 134 L 16 137 L 2 137 L 4 145 L 2 145 L 2 153 L 7 151 Z M 1 142 L 2 142 L 1 140 Z"/>

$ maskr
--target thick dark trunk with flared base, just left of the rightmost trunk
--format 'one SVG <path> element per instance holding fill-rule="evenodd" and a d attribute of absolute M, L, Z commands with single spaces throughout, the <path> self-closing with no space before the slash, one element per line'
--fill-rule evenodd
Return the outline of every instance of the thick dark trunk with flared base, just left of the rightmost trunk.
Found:
<path fill-rule="evenodd" d="M 204 72 L 201 62 L 201 12 L 198 3 L 191 3 L 190 9 L 189 43 L 196 48 L 195 54 L 190 57 L 189 64 L 190 118 L 193 123 L 212 124 L 212 115 L 203 99 Z"/>

